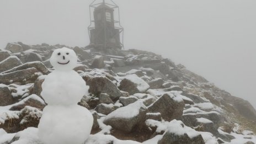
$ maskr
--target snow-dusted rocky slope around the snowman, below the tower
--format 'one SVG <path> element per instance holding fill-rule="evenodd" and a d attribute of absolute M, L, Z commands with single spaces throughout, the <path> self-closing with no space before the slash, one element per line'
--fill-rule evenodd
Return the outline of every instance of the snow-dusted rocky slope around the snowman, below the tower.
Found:
<path fill-rule="evenodd" d="M 61 47 L 17 42 L 0 49 L 0 144 L 41 144 L 41 84 Z M 78 104 L 94 117 L 85 143 L 256 143 L 253 106 L 185 66 L 147 51 L 70 48 L 89 86 Z"/>

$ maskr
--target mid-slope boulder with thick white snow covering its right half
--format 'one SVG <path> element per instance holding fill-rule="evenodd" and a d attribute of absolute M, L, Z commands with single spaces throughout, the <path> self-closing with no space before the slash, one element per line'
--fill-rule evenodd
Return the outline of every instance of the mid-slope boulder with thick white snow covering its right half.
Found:
<path fill-rule="evenodd" d="M 129 94 L 144 93 L 150 86 L 136 74 L 125 76 L 120 82 L 119 89 Z"/>

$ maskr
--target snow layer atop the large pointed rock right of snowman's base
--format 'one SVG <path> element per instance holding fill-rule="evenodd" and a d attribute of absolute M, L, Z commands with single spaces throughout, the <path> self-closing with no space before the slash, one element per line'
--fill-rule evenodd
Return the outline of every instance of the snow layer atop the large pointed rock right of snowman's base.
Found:
<path fill-rule="evenodd" d="M 122 108 L 116 109 L 112 113 L 108 114 L 105 120 L 113 119 L 113 118 L 125 118 L 125 119 L 133 118 L 134 116 L 137 116 L 139 114 L 140 108 L 147 109 L 142 102 L 137 101 L 135 103 L 129 104 Z"/>

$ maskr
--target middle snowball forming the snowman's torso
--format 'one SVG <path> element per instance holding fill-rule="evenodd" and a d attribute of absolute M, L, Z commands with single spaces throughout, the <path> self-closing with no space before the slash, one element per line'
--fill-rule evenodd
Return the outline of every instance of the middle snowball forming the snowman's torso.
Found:
<path fill-rule="evenodd" d="M 48 104 L 77 104 L 89 87 L 79 74 L 71 71 L 54 71 L 45 77 L 41 95 Z"/>

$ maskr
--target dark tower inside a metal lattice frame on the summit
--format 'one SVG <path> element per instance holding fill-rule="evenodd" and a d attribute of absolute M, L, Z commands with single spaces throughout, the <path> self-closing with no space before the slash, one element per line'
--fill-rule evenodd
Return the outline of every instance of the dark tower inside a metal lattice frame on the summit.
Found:
<path fill-rule="evenodd" d="M 119 7 L 112 0 L 94 0 L 90 6 L 90 45 L 98 49 L 124 48 Z"/>

